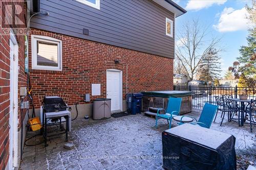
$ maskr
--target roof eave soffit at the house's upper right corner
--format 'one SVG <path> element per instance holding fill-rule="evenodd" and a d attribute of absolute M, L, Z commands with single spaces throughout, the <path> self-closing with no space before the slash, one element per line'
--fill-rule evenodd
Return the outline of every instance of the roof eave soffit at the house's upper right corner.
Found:
<path fill-rule="evenodd" d="M 187 11 L 181 8 L 179 5 L 174 3 L 171 0 L 152 0 L 155 3 L 159 4 L 163 8 L 169 10 L 170 12 L 173 12 L 176 17 L 186 13 Z"/>

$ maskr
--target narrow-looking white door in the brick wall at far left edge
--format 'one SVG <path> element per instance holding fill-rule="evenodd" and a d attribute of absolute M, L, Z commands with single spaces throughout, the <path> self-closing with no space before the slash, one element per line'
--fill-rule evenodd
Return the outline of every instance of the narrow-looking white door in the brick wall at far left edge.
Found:
<path fill-rule="evenodd" d="M 15 36 L 10 39 L 10 115 L 9 115 L 9 169 L 17 166 L 18 123 L 18 45 Z"/>

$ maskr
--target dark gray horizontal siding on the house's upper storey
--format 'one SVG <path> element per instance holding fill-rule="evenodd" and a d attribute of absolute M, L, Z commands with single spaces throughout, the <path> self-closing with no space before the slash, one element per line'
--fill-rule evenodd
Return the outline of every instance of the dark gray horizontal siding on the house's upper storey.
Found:
<path fill-rule="evenodd" d="M 34 17 L 33 28 L 174 58 L 174 38 L 165 35 L 165 18 L 174 21 L 174 14 L 151 0 L 100 0 L 100 10 L 72 0 L 40 0 L 40 11 L 50 15 Z"/>

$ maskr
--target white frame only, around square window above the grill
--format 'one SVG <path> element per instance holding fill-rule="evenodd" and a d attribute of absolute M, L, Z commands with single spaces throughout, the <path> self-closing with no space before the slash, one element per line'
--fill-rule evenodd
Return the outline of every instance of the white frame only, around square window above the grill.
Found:
<path fill-rule="evenodd" d="M 49 43 L 58 44 L 58 66 L 44 66 L 37 65 L 37 41 L 44 41 Z M 62 71 L 62 41 L 56 38 L 42 36 L 42 35 L 31 35 L 31 52 L 32 52 L 32 69 L 41 70 L 56 70 Z"/>

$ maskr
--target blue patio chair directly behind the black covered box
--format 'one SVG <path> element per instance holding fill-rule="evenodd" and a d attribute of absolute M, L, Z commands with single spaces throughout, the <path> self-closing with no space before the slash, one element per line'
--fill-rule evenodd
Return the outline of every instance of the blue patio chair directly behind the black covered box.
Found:
<path fill-rule="evenodd" d="M 212 123 L 212 120 L 214 119 L 214 115 L 215 113 L 218 111 L 218 106 L 216 105 L 211 105 L 209 103 L 205 103 L 203 111 L 201 112 L 201 115 L 199 117 L 199 120 L 197 121 L 197 119 L 193 116 L 182 116 L 180 123 L 178 123 L 179 125 L 183 124 L 182 123 L 182 118 L 183 117 L 191 117 L 194 118 L 196 120 L 196 122 L 191 122 L 189 124 L 193 124 L 193 125 L 200 125 L 201 127 L 204 128 L 208 128 L 210 129 L 210 125 Z"/>

